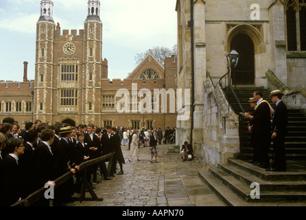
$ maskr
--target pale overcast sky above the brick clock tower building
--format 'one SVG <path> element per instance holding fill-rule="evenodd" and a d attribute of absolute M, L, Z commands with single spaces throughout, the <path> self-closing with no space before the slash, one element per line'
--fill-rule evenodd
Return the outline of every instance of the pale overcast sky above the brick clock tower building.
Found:
<path fill-rule="evenodd" d="M 84 29 L 88 0 L 53 0 L 54 22 L 61 30 Z M 108 78 L 126 78 L 137 66 L 134 56 L 177 41 L 176 0 L 100 0 L 102 56 Z M 0 80 L 29 80 L 35 75 L 36 22 L 40 0 L 0 0 Z"/>

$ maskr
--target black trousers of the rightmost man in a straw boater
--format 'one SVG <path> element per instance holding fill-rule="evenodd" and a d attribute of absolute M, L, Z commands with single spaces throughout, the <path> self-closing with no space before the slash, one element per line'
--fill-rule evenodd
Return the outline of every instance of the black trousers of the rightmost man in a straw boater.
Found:
<path fill-rule="evenodd" d="M 272 168 L 277 170 L 286 169 L 286 156 L 285 156 L 285 135 L 278 133 L 273 139 L 274 163 Z"/>

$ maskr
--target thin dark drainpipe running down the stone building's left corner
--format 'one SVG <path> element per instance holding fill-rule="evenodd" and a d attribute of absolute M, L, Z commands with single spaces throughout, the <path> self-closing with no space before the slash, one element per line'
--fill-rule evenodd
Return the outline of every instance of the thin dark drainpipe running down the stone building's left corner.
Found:
<path fill-rule="evenodd" d="M 194 25 L 193 25 L 193 0 L 190 0 L 190 15 L 191 21 L 189 21 L 189 28 L 191 28 L 191 134 L 190 134 L 190 143 L 193 140 L 193 111 L 194 111 Z"/>

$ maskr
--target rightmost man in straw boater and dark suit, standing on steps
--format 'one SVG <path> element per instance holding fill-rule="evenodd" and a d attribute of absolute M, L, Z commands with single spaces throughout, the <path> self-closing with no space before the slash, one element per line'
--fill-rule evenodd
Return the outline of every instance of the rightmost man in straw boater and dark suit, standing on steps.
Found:
<path fill-rule="evenodd" d="M 281 90 L 271 91 L 269 98 L 276 104 L 272 118 L 272 139 L 274 163 L 267 171 L 280 171 L 286 169 L 285 135 L 287 134 L 287 107 L 282 102 Z"/>

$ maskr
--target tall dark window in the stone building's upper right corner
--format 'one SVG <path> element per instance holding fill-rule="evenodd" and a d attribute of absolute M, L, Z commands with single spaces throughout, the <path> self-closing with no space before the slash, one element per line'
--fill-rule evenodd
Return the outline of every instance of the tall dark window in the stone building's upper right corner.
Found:
<path fill-rule="evenodd" d="M 289 0 L 286 5 L 287 50 L 306 50 L 306 0 Z"/>

